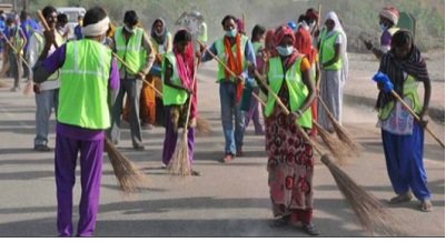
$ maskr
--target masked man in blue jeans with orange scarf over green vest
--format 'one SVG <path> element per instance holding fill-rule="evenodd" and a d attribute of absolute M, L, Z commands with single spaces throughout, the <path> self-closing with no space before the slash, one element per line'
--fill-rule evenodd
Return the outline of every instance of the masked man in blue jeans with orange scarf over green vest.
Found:
<path fill-rule="evenodd" d="M 234 78 L 218 64 L 217 81 L 220 85 L 221 125 L 225 135 L 225 155 L 221 162 L 242 157 L 245 113 L 240 109 L 245 80 L 248 78 L 247 62 L 256 64 L 252 43 L 237 30 L 236 17 L 226 16 L 221 21 L 225 36 L 217 39 L 209 51 L 219 57 L 237 77 Z M 204 50 L 202 50 L 204 51 Z M 214 58 L 206 51 L 201 61 Z"/>

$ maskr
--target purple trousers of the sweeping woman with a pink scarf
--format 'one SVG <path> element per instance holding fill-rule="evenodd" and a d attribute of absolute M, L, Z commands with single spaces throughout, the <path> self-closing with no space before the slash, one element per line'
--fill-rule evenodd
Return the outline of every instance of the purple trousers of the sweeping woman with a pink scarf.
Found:
<path fill-rule="evenodd" d="M 168 165 L 170 160 L 172 159 L 175 149 L 177 148 L 177 138 L 178 132 L 174 131 L 174 127 L 170 119 L 170 107 L 165 107 L 165 144 L 162 148 L 162 163 Z M 182 133 L 180 133 L 182 135 Z M 182 138 L 181 138 L 182 139 Z M 189 150 L 189 162 L 192 164 L 194 162 L 194 147 L 195 147 L 195 129 L 189 128 L 187 133 L 187 144 Z"/>

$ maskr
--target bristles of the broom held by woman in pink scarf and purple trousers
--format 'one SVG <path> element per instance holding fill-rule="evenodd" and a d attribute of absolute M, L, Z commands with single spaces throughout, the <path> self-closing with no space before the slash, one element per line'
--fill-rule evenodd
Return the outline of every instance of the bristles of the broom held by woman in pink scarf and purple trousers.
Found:
<path fill-rule="evenodd" d="M 187 135 L 182 135 L 182 138 L 178 142 L 172 159 L 170 160 L 167 169 L 169 170 L 170 174 L 180 175 L 181 178 L 191 174 Z"/>

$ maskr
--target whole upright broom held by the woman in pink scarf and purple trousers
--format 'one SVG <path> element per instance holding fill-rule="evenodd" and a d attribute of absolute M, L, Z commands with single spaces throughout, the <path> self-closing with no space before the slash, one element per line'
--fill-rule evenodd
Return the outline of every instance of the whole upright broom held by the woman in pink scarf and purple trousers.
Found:
<path fill-rule="evenodd" d="M 197 59 L 196 65 L 195 65 L 194 79 L 192 79 L 192 85 L 191 85 L 192 89 L 196 83 L 198 64 L 199 64 L 199 59 Z M 191 104 L 192 104 L 192 94 L 189 95 L 189 103 L 187 105 L 186 121 L 185 121 L 185 128 L 182 129 L 182 135 L 175 149 L 172 159 L 170 160 L 169 165 L 167 167 L 170 174 L 180 175 L 182 178 L 190 175 L 192 172 L 192 169 L 190 167 L 190 161 L 189 161 L 189 148 L 188 148 L 188 138 L 187 138 Z"/>

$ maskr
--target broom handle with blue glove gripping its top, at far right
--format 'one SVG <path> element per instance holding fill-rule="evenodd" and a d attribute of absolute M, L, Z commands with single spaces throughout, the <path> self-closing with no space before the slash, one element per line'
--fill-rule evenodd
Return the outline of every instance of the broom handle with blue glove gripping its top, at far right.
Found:
<path fill-rule="evenodd" d="M 381 83 L 384 85 L 384 91 L 392 93 L 392 95 L 403 104 L 403 107 L 410 113 L 410 115 L 413 115 L 416 121 L 422 123 L 424 129 L 435 139 L 435 141 L 437 141 L 438 144 L 443 147 L 443 149 L 445 148 L 445 143 L 437 135 L 435 135 L 435 133 L 429 129 L 429 127 L 427 127 L 427 122 L 422 120 L 422 118 L 418 114 L 416 114 L 414 110 L 412 110 L 412 108 L 402 99 L 402 97 L 399 97 L 399 94 L 396 93 L 396 91 L 394 90 L 394 85 L 387 74 L 378 72 L 373 77 L 373 80 L 378 83 Z"/>

